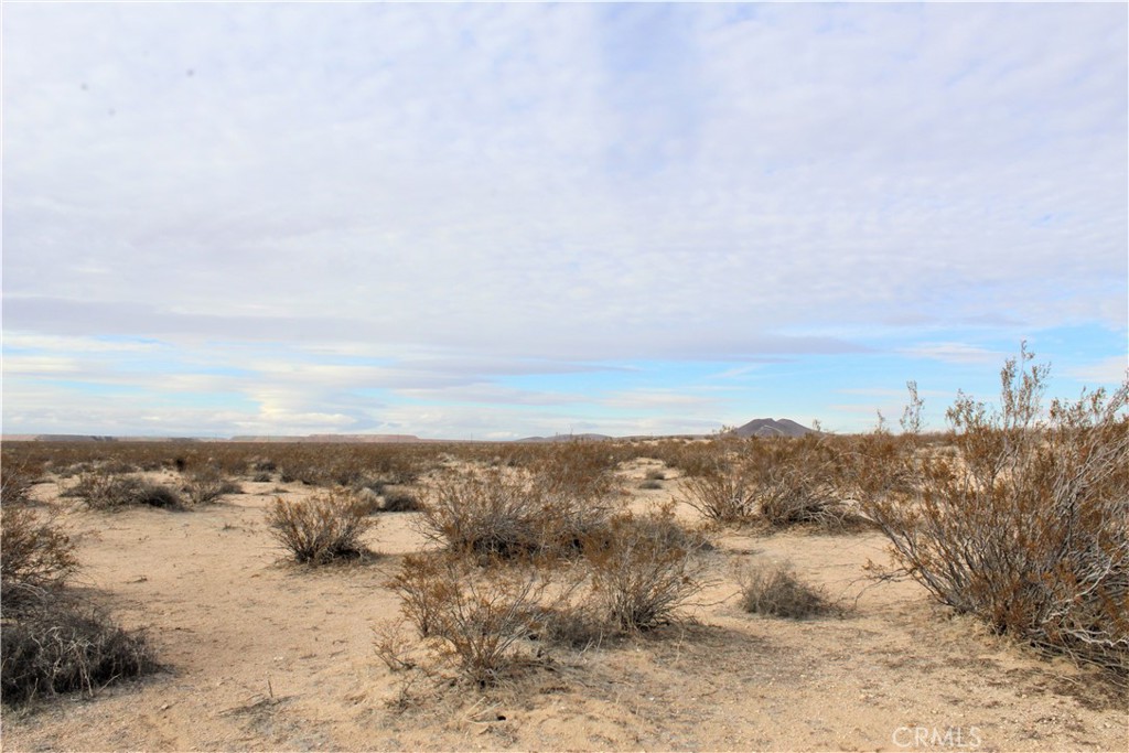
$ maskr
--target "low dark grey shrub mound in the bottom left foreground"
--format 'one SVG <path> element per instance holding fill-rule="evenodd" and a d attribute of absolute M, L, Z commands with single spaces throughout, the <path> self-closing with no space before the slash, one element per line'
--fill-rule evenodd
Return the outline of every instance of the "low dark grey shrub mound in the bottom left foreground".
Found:
<path fill-rule="evenodd" d="M 0 631 L 3 702 L 81 691 L 152 672 L 152 650 L 142 633 L 123 630 L 104 613 L 65 599 L 45 599 L 6 614 Z"/>

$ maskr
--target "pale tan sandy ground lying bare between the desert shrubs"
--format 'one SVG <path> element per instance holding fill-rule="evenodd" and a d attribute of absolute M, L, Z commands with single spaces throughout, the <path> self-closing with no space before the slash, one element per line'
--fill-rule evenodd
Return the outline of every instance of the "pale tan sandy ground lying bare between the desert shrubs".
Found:
<path fill-rule="evenodd" d="M 78 540 L 90 597 L 147 629 L 167 668 L 6 709 L 5 750 L 1129 750 L 1126 697 L 1093 672 L 991 637 L 913 583 L 865 580 L 867 560 L 887 561 L 873 533 L 720 532 L 717 584 L 682 624 L 551 651 L 489 692 L 426 677 L 405 690 L 374 628 L 397 620 L 383 584 L 425 546 L 414 514 L 380 515 L 374 562 L 310 570 L 264 526 L 278 484 L 243 487 L 187 513 L 116 514 L 35 488 Z M 785 559 L 852 611 L 739 611 L 734 568 Z"/>

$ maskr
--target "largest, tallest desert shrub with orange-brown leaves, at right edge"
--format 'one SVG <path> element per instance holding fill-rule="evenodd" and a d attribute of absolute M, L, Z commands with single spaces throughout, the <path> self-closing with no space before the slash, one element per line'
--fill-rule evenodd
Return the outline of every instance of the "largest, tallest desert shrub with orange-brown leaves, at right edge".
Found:
<path fill-rule="evenodd" d="M 957 457 L 907 436 L 866 439 L 865 513 L 900 566 L 938 601 L 1041 649 L 1129 672 L 1129 380 L 1076 402 L 1042 394 L 1049 369 L 1024 348 L 1000 402 L 948 409 Z"/>

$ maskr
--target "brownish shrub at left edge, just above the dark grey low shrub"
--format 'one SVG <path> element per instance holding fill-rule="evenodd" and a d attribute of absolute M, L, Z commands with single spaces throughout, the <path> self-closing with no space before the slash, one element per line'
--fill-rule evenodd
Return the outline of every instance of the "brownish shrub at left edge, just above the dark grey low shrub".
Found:
<path fill-rule="evenodd" d="M 0 552 L 6 607 L 61 586 L 78 569 L 70 537 L 28 507 L 0 507 Z"/>

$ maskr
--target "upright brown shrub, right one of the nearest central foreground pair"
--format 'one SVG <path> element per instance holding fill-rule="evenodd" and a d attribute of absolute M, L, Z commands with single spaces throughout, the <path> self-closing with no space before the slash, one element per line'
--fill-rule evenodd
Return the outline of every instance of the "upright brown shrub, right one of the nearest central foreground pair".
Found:
<path fill-rule="evenodd" d="M 702 544 L 674 522 L 669 506 L 616 515 L 589 533 L 584 557 L 602 618 L 628 632 L 671 622 L 704 585 L 697 557 Z"/>

